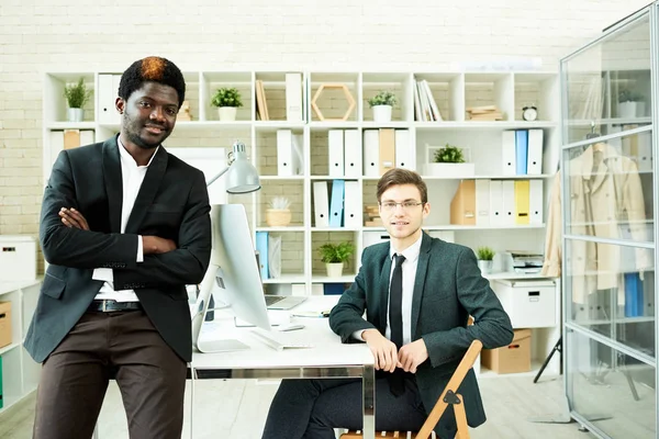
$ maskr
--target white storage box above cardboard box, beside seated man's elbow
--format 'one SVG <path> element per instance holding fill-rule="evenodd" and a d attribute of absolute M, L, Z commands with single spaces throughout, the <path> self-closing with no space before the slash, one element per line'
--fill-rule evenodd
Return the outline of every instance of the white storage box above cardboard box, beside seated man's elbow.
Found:
<path fill-rule="evenodd" d="M 511 317 L 513 328 L 556 326 L 556 283 L 552 280 L 495 280 L 492 290 Z"/>

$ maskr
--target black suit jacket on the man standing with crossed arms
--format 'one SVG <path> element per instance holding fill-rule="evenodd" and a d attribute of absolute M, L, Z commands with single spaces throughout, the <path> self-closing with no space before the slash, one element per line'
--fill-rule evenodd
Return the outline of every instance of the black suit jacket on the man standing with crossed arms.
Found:
<path fill-rule="evenodd" d="M 101 281 L 93 269 L 111 268 L 116 290 L 135 290 L 165 341 L 186 361 L 192 357 L 186 284 L 200 283 L 211 256 L 211 219 L 203 173 L 169 155 L 153 158 L 121 233 L 122 173 L 116 137 L 64 150 L 45 188 L 40 239 L 49 266 L 25 348 L 44 361 L 82 316 Z M 89 230 L 62 224 L 60 207 L 75 207 Z M 172 239 L 177 249 L 144 255 L 137 235 Z"/>

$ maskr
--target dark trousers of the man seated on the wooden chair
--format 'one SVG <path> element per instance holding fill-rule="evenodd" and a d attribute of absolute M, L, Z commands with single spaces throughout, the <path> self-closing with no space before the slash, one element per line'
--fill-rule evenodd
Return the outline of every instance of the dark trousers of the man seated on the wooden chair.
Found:
<path fill-rule="evenodd" d="M 263 439 L 335 439 L 334 428 L 360 430 L 361 380 L 283 380 L 270 405 Z M 376 428 L 418 430 L 426 413 L 416 380 L 395 397 L 386 378 L 376 380 Z"/>

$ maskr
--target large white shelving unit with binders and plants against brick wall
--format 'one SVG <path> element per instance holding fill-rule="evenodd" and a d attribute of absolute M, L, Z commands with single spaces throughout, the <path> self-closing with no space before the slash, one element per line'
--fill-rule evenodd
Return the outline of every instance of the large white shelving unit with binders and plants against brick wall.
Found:
<path fill-rule="evenodd" d="M 317 284 L 347 283 L 357 273 L 365 236 L 382 234 L 383 227 L 316 227 L 314 224 L 313 183 L 332 183 L 328 170 L 330 130 L 356 130 L 359 132 L 359 148 L 364 154 L 362 142 L 366 130 L 407 130 L 410 150 L 409 166 L 423 172 L 426 161 L 426 145 L 444 146 L 446 143 L 469 148 L 476 176 L 443 178 L 426 176 L 432 212 L 425 222 L 431 234 L 449 236 L 454 241 L 477 248 L 482 245 L 495 251 L 528 250 L 544 252 L 544 224 L 512 226 L 461 226 L 449 222 L 449 205 L 458 183 L 462 179 L 521 180 L 539 179 L 544 184 L 544 200 L 557 169 L 559 145 L 559 85 L 558 72 L 511 71 L 511 72 L 413 72 L 413 71 L 299 71 L 302 77 L 303 122 L 288 122 L 286 108 L 286 74 L 290 71 L 185 71 L 187 80 L 186 100 L 190 103 L 193 120 L 180 121 L 166 147 L 225 148 L 239 139 L 247 147 L 247 154 L 260 172 L 263 189 L 246 195 L 227 195 L 226 202 L 246 205 L 253 233 L 269 232 L 282 238 L 282 275 L 265 280 L 268 291 L 294 291 L 312 294 L 320 291 Z M 114 102 L 116 90 L 101 90 L 100 85 L 118 83 L 108 81 L 104 75 L 119 72 L 48 72 L 44 85 L 44 179 L 47 178 L 58 148 L 51 145 L 51 133 L 63 130 L 93 130 L 97 142 L 107 139 L 119 131 L 119 119 L 108 115 L 108 102 Z M 65 83 L 83 77 L 93 89 L 93 98 L 88 105 L 85 121 L 65 121 L 66 102 L 63 98 Z M 257 119 L 256 80 L 264 83 L 269 119 Z M 414 116 L 415 82 L 426 80 L 435 99 L 443 122 L 420 122 Z M 317 105 L 323 115 L 332 121 L 321 121 L 312 109 L 312 98 L 324 83 L 345 85 L 355 109 L 345 121 L 348 103 L 340 90 L 323 91 Z M 211 97 L 219 87 L 236 87 L 242 93 L 244 106 L 238 109 L 235 122 L 219 121 L 216 110 L 210 105 Z M 373 122 L 372 111 L 367 100 L 380 90 L 392 90 L 399 100 L 389 123 Z M 101 102 L 102 101 L 102 102 Z M 466 109 L 474 105 L 495 104 L 504 114 L 504 120 L 494 122 L 470 121 Z M 538 120 L 522 120 L 522 108 L 534 104 L 538 109 Z M 112 119 L 114 117 L 114 119 Z M 544 167 L 541 175 L 504 176 L 501 169 L 502 133 L 506 130 L 540 128 L 544 132 Z M 301 176 L 282 177 L 277 175 L 277 131 L 291 130 L 303 139 L 303 172 Z M 357 182 L 361 194 L 361 205 L 376 205 L 377 177 L 342 178 Z M 219 180 L 215 184 L 222 184 Z M 265 211 L 272 196 L 284 195 L 291 201 L 292 221 L 287 227 L 268 227 Z M 546 215 L 546 212 L 545 212 Z M 364 222 L 361 222 L 364 224 Z M 350 240 L 357 251 L 344 267 L 340 279 L 328 279 L 321 262 L 317 247 L 326 241 Z M 502 267 L 491 279 L 525 279 L 517 273 L 509 273 Z M 557 286 L 559 289 L 559 286 Z M 557 290 L 558 291 L 558 290 Z M 541 337 L 546 339 L 536 349 L 534 361 L 544 360 L 560 335 L 559 302 L 557 294 L 556 325 L 547 328 Z M 538 329 L 541 330 L 541 329 Z M 544 330 L 544 329 L 543 329 Z M 547 373 L 558 371 L 558 359 L 552 360 Z"/>

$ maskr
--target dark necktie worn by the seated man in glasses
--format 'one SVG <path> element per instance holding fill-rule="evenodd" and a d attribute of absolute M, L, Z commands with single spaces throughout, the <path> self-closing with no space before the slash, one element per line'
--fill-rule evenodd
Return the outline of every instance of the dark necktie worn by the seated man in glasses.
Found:
<path fill-rule="evenodd" d="M 389 288 L 389 324 L 391 326 L 391 341 L 396 349 L 403 346 L 403 255 L 394 255 L 395 267 Z M 405 393 L 404 371 L 396 369 L 389 379 L 389 387 L 394 396 Z"/>

